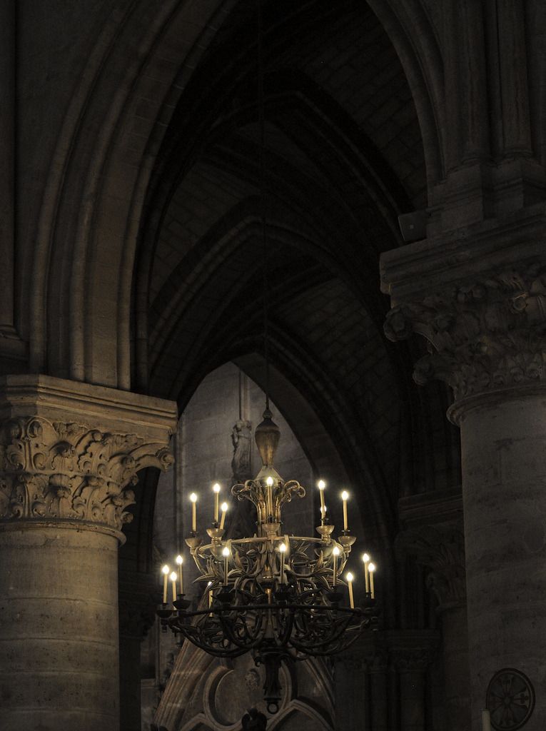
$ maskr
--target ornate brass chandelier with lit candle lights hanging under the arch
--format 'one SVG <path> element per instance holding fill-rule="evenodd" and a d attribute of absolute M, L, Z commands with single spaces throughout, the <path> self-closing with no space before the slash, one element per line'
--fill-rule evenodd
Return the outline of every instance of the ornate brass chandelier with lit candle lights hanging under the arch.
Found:
<path fill-rule="evenodd" d="M 255 431 L 262 469 L 254 480 L 233 485 L 232 495 L 249 500 L 256 509 L 254 536 L 224 540 L 227 504 L 219 520 L 219 487 L 215 485 L 214 520 L 207 529 L 211 539 L 203 545 L 197 532 L 196 496 L 192 496 L 192 532 L 186 538 L 203 583 L 197 610 L 183 593 L 180 577 L 173 573 L 172 604 L 167 602 L 170 569 L 163 567 L 163 603 L 157 614 L 164 629 L 182 635 L 216 657 L 251 653 L 265 667 L 264 697 L 269 713 L 278 711 L 282 662 L 336 654 L 349 647 L 365 628 L 376 624 L 374 564 L 364 554 L 365 600 L 354 606 L 353 577 L 341 579 L 356 538 L 347 520 L 347 493 L 343 493 L 344 529 L 335 539 L 321 488 L 321 521 L 317 537 L 283 534 L 281 509 L 303 498 L 305 488 L 296 480 L 284 482 L 273 467 L 280 438 L 278 426 L 266 406 Z M 180 593 L 177 593 L 177 580 Z"/>

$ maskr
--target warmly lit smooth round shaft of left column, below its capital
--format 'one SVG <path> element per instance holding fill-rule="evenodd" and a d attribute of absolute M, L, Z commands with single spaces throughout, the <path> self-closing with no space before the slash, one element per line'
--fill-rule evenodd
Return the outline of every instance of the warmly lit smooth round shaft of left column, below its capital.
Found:
<path fill-rule="evenodd" d="M 115 531 L 0 523 L 0 556 L 2 730 L 118 729 Z"/>

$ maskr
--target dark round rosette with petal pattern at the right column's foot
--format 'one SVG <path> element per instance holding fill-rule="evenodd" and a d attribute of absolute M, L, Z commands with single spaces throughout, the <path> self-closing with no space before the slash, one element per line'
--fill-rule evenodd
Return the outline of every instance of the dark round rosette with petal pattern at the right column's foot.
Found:
<path fill-rule="evenodd" d="M 485 704 L 496 731 L 516 731 L 527 723 L 534 708 L 534 688 L 526 675 L 505 667 L 493 675 Z"/>

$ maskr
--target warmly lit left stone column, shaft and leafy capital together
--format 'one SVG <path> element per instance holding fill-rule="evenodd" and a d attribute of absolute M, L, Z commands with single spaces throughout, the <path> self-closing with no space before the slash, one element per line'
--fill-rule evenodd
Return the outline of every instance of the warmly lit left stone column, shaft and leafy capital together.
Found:
<path fill-rule="evenodd" d="M 0 727 L 119 727 L 118 542 L 137 471 L 166 468 L 168 401 L 0 379 Z"/>

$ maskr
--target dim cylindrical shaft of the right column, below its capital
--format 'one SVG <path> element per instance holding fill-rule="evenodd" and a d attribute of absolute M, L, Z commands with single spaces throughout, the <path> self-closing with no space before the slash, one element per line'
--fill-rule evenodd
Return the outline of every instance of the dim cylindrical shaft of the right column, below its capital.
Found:
<path fill-rule="evenodd" d="M 479 731 L 498 670 L 515 668 L 536 690 L 546 687 L 546 390 L 469 397 L 451 417 L 461 432 L 472 729 Z M 543 692 L 531 727 L 546 727 Z"/>

